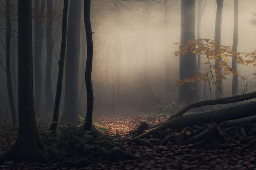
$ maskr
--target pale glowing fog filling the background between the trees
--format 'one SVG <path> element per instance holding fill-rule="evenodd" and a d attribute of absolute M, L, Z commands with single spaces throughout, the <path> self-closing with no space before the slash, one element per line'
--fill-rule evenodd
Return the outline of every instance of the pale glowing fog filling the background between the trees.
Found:
<path fill-rule="evenodd" d="M 234 1 L 225 0 L 222 13 L 221 44 L 232 46 L 234 24 Z M 17 2 L 11 0 L 13 5 Z M 32 4 L 34 6 L 34 4 Z M 46 5 L 45 5 L 46 7 Z M 177 102 L 179 86 L 179 57 L 175 51 L 179 50 L 181 34 L 181 2 L 180 0 L 93 0 L 91 11 L 92 32 L 94 41 L 94 59 L 92 70 L 92 84 L 94 90 L 94 110 L 104 113 L 117 113 L 119 111 L 152 111 L 157 106 L 157 99 L 168 103 Z M 214 39 L 216 1 L 202 0 L 201 36 L 200 38 Z M 52 27 L 53 60 L 52 60 L 52 94 L 56 93 L 58 76 L 58 57 L 61 48 L 61 18 L 63 2 L 53 1 L 54 16 Z M 239 33 L 238 51 L 252 52 L 256 49 L 256 27 L 251 23 L 254 19 L 256 3 L 254 0 L 239 1 Z M 17 16 L 12 16 L 11 54 L 15 67 L 12 65 L 13 76 L 18 75 L 18 46 Z M 0 33 L 1 40 L 5 38 L 5 19 L 2 17 Z M 198 2 L 195 4 L 195 38 L 197 36 Z M 33 22 L 34 23 L 34 22 Z M 45 106 L 45 69 L 46 69 L 46 28 L 43 23 L 42 46 L 42 92 L 41 110 Z M 34 29 L 33 29 L 34 30 Z M 33 35 L 34 41 L 34 35 Z M 81 14 L 80 31 L 80 57 L 79 57 L 79 106 L 80 111 L 86 110 L 86 91 L 84 71 L 86 62 L 86 39 L 83 23 L 83 10 Z M 34 45 L 34 44 L 33 44 Z M 0 59 L 4 66 L 4 46 L 0 46 Z M 33 50 L 34 54 L 34 50 Z M 201 57 L 201 71 L 205 70 L 206 56 Z M 231 61 L 231 60 L 230 60 Z M 231 62 L 228 63 L 231 65 Z M 16 69 L 14 69 L 16 68 Z M 238 78 L 238 94 L 255 91 L 255 68 L 252 65 L 238 64 L 238 71 L 247 81 Z M 0 69 L 1 112 L 9 107 L 6 75 Z M 13 95 L 17 101 L 17 79 L 13 79 Z M 65 79 L 65 77 L 64 77 Z M 231 96 L 232 75 L 223 80 L 223 97 Z M 65 80 L 63 80 L 63 86 Z M 202 83 L 203 84 L 203 83 Z M 202 88 L 199 90 L 202 99 Z M 64 89 L 64 88 L 63 88 Z M 207 99 L 209 99 L 209 86 L 206 86 Z M 61 98 L 60 110 L 63 110 L 64 93 Z M 156 99 L 157 98 L 157 99 Z"/>

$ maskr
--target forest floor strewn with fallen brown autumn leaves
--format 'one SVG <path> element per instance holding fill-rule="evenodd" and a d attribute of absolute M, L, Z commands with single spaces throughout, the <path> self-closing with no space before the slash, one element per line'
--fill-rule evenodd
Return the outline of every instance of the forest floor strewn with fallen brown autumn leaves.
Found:
<path fill-rule="evenodd" d="M 146 139 L 148 145 L 140 145 L 127 137 L 130 130 L 136 129 L 141 121 L 155 124 L 169 117 L 166 114 L 141 113 L 130 115 L 96 115 L 94 125 L 104 134 L 112 135 L 110 140 L 121 141 L 118 148 L 135 155 L 135 159 L 110 161 L 88 159 L 83 167 L 68 167 L 55 163 L 14 163 L 0 164 L 1 170 L 256 170 L 256 146 L 254 143 L 230 146 L 223 150 L 217 148 L 200 149 L 190 145 L 156 145 L 156 138 Z M 2 131 L 0 132 L 2 134 Z M 2 137 L 3 145 L 13 143 L 17 135 L 15 128 L 7 128 Z M 1 152 L 6 150 L 1 147 Z"/>

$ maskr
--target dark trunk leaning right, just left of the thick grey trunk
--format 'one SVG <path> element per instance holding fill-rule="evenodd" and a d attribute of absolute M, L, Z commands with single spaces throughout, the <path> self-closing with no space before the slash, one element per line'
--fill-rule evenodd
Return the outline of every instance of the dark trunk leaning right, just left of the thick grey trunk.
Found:
<path fill-rule="evenodd" d="M 63 15 L 62 15 L 62 39 L 61 39 L 61 54 L 58 62 L 58 81 L 55 96 L 54 112 L 52 118 L 52 124 L 49 130 L 56 130 L 58 125 L 58 115 L 61 101 L 62 92 L 62 80 L 65 63 L 65 52 L 66 52 L 66 39 L 67 39 L 67 11 L 68 11 L 68 0 L 64 0 Z"/>

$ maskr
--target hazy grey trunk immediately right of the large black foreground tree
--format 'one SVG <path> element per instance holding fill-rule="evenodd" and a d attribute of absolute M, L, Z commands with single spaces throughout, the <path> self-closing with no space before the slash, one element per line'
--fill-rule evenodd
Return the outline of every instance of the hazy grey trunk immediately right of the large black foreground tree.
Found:
<path fill-rule="evenodd" d="M 35 11 L 39 13 L 45 11 L 45 0 L 41 0 L 41 9 L 39 9 L 40 0 L 34 0 Z M 43 22 L 35 19 L 35 113 L 39 114 L 41 103 L 41 57 L 43 46 Z"/>

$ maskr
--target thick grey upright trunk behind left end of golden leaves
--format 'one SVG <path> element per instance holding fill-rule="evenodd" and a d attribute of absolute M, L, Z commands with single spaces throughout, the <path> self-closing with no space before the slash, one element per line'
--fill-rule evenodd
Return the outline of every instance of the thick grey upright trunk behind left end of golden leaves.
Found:
<path fill-rule="evenodd" d="M 195 40 L 195 0 L 181 1 L 181 38 L 180 43 Z M 196 56 L 194 53 L 180 55 L 180 79 L 196 75 Z M 187 104 L 198 101 L 198 87 L 196 83 L 184 83 L 180 86 L 178 102 Z"/>

